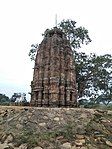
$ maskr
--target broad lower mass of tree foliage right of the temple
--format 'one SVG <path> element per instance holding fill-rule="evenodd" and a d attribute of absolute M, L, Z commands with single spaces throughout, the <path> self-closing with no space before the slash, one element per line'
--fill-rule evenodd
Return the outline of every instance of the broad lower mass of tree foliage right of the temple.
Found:
<path fill-rule="evenodd" d="M 74 59 L 78 98 L 86 96 L 94 103 L 112 101 L 112 56 L 76 53 Z"/>

